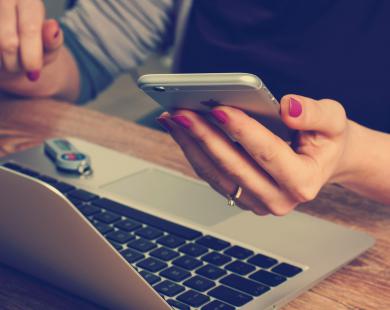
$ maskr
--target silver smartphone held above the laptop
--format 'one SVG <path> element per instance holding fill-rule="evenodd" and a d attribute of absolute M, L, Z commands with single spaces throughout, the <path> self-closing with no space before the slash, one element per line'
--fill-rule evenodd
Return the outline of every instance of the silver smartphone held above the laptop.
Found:
<path fill-rule="evenodd" d="M 138 86 L 167 111 L 207 114 L 224 105 L 245 111 L 286 141 L 292 131 L 280 118 L 280 105 L 260 78 L 248 73 L 147 74 Z"/>

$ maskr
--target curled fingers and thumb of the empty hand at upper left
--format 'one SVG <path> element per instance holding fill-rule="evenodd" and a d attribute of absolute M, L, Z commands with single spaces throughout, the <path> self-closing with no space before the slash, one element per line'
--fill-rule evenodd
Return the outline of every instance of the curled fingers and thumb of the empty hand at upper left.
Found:
<path fill-rule="evenodd" d="M 38 81 L 63 46 L 54 19 L 45 20 L 42 0 L 0 0 L 0 88 Z"/>

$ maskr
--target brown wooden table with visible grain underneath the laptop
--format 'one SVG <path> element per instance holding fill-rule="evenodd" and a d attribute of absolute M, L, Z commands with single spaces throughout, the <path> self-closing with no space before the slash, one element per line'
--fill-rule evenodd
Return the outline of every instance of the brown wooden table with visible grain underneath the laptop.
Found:
<path fill-rule="evenodd" d="M 178 147 L 164 133 L 67 103 L 0 100 L 0 156 L 36 146 L 53 136 L 79 137 L 194 175 Z M 377 241 L 364 255 L 285 309 L 390 309 L 390 207 L 329 186 L 300 209 L 367 232 Z M 0 308 L 98 307 L 0 265 Z"/>

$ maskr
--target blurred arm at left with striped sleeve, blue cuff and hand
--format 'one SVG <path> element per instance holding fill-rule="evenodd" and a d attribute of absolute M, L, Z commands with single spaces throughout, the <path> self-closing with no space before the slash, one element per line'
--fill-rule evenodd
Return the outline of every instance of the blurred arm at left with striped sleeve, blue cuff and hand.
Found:
<path fill-rule="evenodd" d="M 86 102 L 165 42 L 173 8 L 173 0 L 79 0 L 61 21 L 63 47 L 64 33 L 56 21 L 44 21 L 41 0 L 0 0 L 0 54 L 13 44 L 13 66 L 3 66 L 0 90 Z"/>

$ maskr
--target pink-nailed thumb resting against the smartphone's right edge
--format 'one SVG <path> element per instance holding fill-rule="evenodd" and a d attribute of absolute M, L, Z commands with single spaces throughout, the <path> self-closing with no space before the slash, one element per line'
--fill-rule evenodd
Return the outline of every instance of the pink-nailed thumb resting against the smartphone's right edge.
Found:
<path fill-rule="evenodd" d="M 344 132 L 347 117 L 343 106 L 334 100 L 286 95 L 281 100 L 281 117 L 291 129 L 318 131 L 326 136 Z"/>

